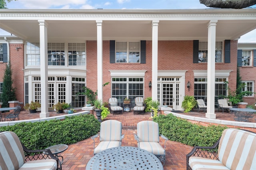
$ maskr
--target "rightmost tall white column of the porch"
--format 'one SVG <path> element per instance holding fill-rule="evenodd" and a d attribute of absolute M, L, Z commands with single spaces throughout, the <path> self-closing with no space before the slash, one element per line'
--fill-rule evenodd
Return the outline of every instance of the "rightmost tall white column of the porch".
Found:
<path fill-rule="evenodd" d="M 216 119 L 214 113 L 216 23 L 215 20 L 208 23 L 207 111 L 205 116 L 210 119 Z"/>

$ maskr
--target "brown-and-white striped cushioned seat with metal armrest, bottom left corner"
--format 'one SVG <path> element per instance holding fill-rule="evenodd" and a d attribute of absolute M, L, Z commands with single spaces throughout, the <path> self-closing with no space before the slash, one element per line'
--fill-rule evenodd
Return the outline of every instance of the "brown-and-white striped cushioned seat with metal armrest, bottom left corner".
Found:
<path fill-rule="evenodd" d="M 28 150 L 12 131 L 0 132 L 0 143 L 1 170 L 57 170 L 59 165 L 61 170 L 59 159 L 50 149 Z"/>

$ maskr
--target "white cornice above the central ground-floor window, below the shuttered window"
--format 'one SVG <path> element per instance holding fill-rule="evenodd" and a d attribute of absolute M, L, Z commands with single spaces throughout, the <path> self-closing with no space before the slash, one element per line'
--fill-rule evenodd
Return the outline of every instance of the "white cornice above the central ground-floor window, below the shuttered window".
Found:
<path fill-rule="evenodd" d="M 112 77 L 138 76 L 144 77 L 147 70 L 109 70 Z"/>

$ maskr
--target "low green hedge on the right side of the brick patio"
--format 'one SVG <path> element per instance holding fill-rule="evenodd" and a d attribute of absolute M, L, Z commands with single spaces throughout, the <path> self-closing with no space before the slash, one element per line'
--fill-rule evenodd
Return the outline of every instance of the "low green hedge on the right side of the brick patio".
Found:
<path fill-rule="evenodd" d="M 178 118 L 171 113 L 159 115 L 153 119 L 159 125 L 159 133 L 170 141 L 176 141 L 190 146 L 210 147 L 218 141 L 224 129 L 222 126 L 202 126 Z"/>

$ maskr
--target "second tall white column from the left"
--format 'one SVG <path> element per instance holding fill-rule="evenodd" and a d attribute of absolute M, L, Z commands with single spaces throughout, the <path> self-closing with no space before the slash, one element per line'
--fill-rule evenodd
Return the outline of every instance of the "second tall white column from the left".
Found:
<path fill-rule="evenodd" d="M 102 96 L 102 21 L 97 23 L 97 81 L 98 81 L 98 99 L 103 99 Z"/>

